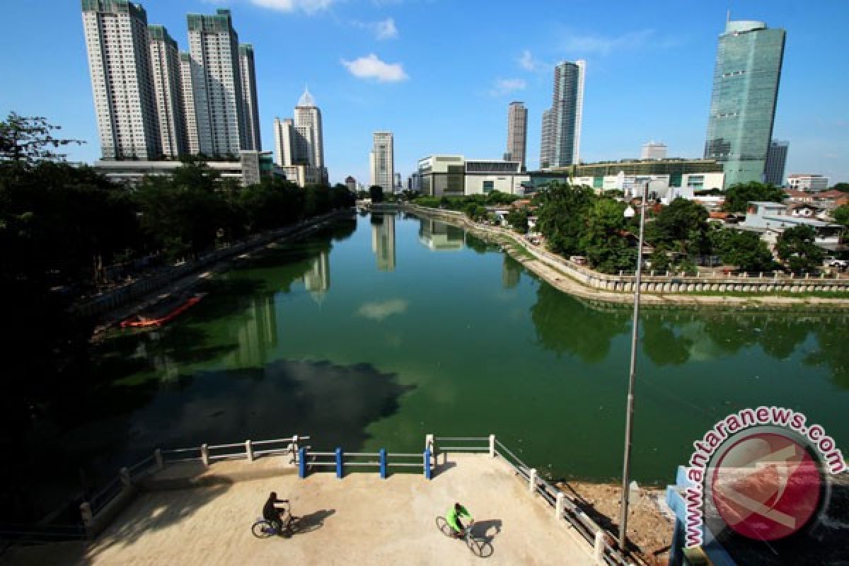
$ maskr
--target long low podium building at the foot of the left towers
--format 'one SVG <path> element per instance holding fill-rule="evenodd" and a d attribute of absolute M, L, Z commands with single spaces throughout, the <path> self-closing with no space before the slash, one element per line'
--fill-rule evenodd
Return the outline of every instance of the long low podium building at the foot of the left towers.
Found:
<path fill-rule="evenodd" d="M 282 168 L 274 165 L 270 151 L 240 151 L 239 160 L 205 162 L 222 179 L 235 179 L 243 187 L 256 184 L 264 177 L 286 177 Z M 148 176 L 171 176 L 182 167 L 181 161 L 98 160 L 93 168 L 112 182 L 136 186 Z"/>

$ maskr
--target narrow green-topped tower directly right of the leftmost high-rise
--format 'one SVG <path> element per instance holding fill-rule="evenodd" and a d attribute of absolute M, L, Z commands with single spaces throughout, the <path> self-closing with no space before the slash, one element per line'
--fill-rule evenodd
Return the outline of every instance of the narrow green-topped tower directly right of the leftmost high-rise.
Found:
<path fill-rule="evenodd" d="M 165 27 L 149 25 L 148 32 L 162 154 L 177 158 L 188 152 L 180 55 L 177 42 L 168 35 Z"/>

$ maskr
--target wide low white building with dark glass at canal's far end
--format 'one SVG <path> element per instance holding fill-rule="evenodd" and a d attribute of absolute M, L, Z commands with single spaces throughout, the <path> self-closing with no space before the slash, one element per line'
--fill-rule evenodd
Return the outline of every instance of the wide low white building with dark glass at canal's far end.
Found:
<path fill-rule="evenodd" d="M 521 172 L 520 161 L 466 160 L 463 155 L 430 155 L 419 160 L 422 193 L 462 197 L 492 191 L 523 194 L 531 177 Z"/>

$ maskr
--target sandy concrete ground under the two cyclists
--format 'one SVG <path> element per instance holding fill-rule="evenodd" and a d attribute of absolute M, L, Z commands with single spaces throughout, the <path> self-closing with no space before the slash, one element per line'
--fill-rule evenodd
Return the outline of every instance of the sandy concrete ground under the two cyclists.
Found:
<path fill-rule="evenodd" d="M 420 474 L 284 475 L 191 490 L 143 494 L 90 545 L 16 549 L 3 565 L 181 564 L 576 564 L 590 546 L 500 459 L 449 455 L 432 481 Z M 307 532 L 259 540 L 250 524 L 271 490 L 292 501 Z M 436 530 L 455 501 L 492 543 L 476 558 Z"/>

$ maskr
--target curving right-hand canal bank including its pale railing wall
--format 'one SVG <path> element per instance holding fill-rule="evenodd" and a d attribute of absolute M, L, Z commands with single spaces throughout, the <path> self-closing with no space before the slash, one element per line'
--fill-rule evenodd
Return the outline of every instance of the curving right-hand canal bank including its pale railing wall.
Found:
<path fill-rule="evenodd" d="M 419 205 L 403 205 L 402 210 L 464 227 L 481 238 L 502 244 L 516 261 L 543 278 L 555 289 L 595 303 L 633 305 L 633 277 L 610 276 L 576 266 L 519 234 L 503 227 L 482 225 L 460 212 L 436 210 Z M 849 282 L 796 278 L 796 280 L 749 277 L 644 277 L 640 304 L 650 307 L 727 309 L 804 309 L 813 311 L 849 310 Z M 615 290 L 611 290 L 615 289 Z M 846 292 L 846 298 L 812 296 Z M 773 294 L 770 294 L 773 293 Z M 779 295 L 782 294 L 782 295 Z M 798 296 L 793 296 L 794 294 Z"/>

